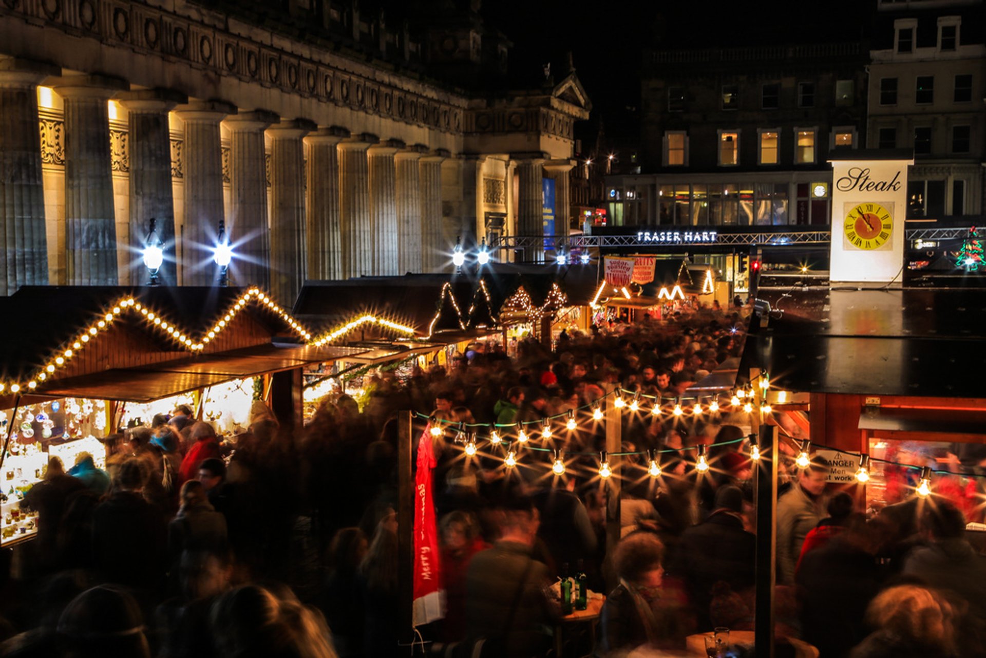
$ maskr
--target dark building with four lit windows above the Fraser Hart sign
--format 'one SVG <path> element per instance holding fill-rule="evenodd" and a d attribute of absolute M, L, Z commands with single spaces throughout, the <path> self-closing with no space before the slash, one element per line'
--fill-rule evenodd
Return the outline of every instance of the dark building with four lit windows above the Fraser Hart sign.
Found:
<path fill-rule="evenodd" d="M 828 224 L 831 167 L 866 128 L 866 44 L 656 50 L 642 173 L 609 177 L 610 224 Z"/>

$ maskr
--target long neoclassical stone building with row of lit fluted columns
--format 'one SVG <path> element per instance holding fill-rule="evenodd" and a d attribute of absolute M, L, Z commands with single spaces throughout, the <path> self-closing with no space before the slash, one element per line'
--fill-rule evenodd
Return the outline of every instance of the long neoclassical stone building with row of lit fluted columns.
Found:
<path fill-rule="evenodd" d="M 233 282 L 283 303 L 305 278 L 439 271 L 459 236 L 538 234 L 544 177 L 567 218 L 574 71 L 470 93 L 429 71 L 505 65 L 476 6 L 417 41 L 353 0 L 277 7 L 0 1 L 0 294 L 146 283 L 151 218 L 163 282 L 214 283 L 224 231 Z"/>

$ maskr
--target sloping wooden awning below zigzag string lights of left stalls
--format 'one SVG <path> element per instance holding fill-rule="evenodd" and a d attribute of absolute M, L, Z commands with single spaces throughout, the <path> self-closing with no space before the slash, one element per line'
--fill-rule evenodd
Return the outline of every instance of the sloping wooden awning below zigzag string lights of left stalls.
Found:
<path fill-rule="evenodd" d="M 44 396 L 117 402 L 152 402 L 234 379 L 291 370 L 368 351 L 353 347 L 259 345 L 216 355 L 177 359 L 139 368 L 112 368 L 52 382 Z"/>

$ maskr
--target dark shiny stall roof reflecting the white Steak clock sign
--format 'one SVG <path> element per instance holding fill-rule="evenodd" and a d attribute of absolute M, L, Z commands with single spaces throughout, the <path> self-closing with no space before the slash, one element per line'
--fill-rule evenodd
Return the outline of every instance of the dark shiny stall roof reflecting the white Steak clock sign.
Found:
<path fill-rule="evenodd" d="M 750 322 L 750 368 L 789 391 L 986 398 L 986 290 L 762 290 L 767 326 Z"/>

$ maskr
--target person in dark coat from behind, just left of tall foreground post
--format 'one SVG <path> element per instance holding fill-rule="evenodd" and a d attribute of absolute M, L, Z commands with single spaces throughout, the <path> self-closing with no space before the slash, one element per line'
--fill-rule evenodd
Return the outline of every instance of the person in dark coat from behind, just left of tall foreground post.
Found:
<path fill-rule="evenodd" d="M 681 535 L 669 575 L 685 582 L 700 628 L 711 627 L 712 588 L 726 581 L 740 592 L 753 585 L 756 536 L 743 530 L 742 491 L 732 484 L 716 491 L 713 512 Z"/>

